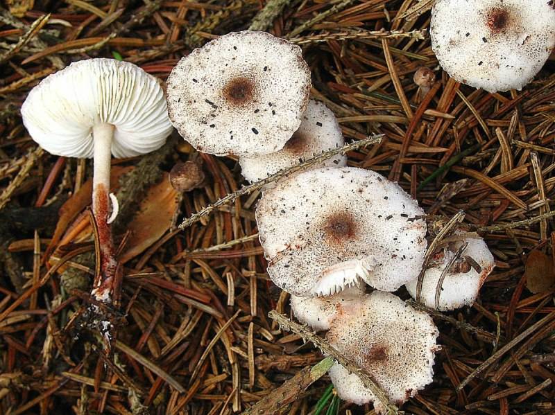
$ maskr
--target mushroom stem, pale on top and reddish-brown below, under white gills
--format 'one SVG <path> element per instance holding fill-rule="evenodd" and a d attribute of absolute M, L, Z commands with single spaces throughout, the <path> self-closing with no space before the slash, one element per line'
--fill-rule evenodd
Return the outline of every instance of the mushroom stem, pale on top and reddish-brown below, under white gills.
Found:
<path fill-rule="evenodd" d="M 112 302 L 112 285 L 117 262 L 112 231 L 108 224 L 110 211 L 110 160 L 114 125 L 102 123 L 92 127 L 94 136 L 94 170 L 92 178 L 92 213 L 99 233 L 101 269 L 96 276 L 92 295 L 96 300 Z"/>

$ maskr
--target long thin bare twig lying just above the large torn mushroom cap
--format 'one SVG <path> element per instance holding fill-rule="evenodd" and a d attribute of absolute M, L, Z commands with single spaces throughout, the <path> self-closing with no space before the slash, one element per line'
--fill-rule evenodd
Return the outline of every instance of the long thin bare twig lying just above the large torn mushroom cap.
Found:
<path fill-rule="evenodd" d="M 239 197 L 244 195 L 249 195 L 250 193 L 253 193 L 253 191 L 256 191 L 259 188 L 266 186 L 266 184 L 268 183 L 275 182 L 275 180 L 278 180 L 281 177 L 296 173 L 300 170 L 304 170 L 305 168 L 309 168 L 311 166 L 314 166 L 315 164 L 322 163 L 327 159 L 331 159 L 336 154 L 345 154 L 346 152 L 357 150 L 359 148 L 366 147 L 367 145 L 379 143 L 382 140 L 382 136 L 383 135 L 370 136 L 368 137 L 368 139 L 355 141 L 355 143 L 345 144 L 343 145 L 343 147 L 334 148 L 333 150 L 328 150 L 326 152 L 323 152 L 322 154 L 318 154 L 316 157 L 312 157 L 311 159 L 302 161 L 300 164 L 296 164 L 295 166 L 292 166 L 290 168 L 284 168 L 283 170 L 280 170 L 278 173 L 274 173 L 273 175 L 268 176 L 265 179 L 259 180 L 258 182 L 249 184 L 248 186 L 241 187 L 239 190 L 234 191 L 233 193 L 229 193 L 228 195 L 225 195 L 225 197 L 222 197 L 220 200 L 217 200 L 216 202 L 205 206 L 203 209 L 200 209 L 200 211 L 198 211 L 197 213 L 194 213 L 194 215 L 191 215 L 189 218 L 183 220 L 183 222 L 179 225 L 179 229 L 185 229 L 186 227 L 191 226 L 191 224 L 194 224 L 195 222 L 198 222 L 200 218 L 203 218 L 204 216 L 209 215 L 212 211 L 214 211 L 214 209 L 217 209 L 219 206 L 232 203 L 235 200 L 237 200 Z"/>

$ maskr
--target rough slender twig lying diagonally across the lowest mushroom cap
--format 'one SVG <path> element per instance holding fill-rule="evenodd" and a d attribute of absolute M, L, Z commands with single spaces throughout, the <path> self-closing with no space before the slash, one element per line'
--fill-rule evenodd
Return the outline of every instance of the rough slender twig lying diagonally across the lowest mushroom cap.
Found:
<path fill-rule="evenodd" d="M 363 368 L 357 367 L 356 364 L 352 363 L 345 356 L 343 356 L 334 346 L 330 345 L 325 339 L 318 337 L 315 333 L 312 333 L 307 328 L 291 321 L 284 315 L 280 315 L 279 312 L 272 310 L 268 313 L 268 317 L 275 320 L 283 330 L 292 331 L 293 333 L 300 335 L 303 339 L 308 340 L 314 346 L 318 347 L 326 355 L 334 357 L 341 366 L 348 369 L 348 371 L 355 373 L 360 380 L 364 383 L 364 386 L 370 389 L 374 396 L 377 398 L 378 402 L 387 408 L 388 414 L 398 414 L 399 409 L 389 402 L 387 394 L 382 390 L 376 382 L 372 380 L 370 374 Z"/>

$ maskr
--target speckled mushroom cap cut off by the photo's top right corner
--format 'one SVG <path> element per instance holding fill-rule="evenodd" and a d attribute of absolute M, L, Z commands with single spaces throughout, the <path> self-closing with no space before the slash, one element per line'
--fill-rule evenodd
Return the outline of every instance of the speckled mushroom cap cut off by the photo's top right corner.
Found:
<path fill-rule="evenodd" d="M 555 46 L 555 10 L 547 0 L 437 0 L 430 35 L 455 80 L 490 92 L 521 89 Z"/>

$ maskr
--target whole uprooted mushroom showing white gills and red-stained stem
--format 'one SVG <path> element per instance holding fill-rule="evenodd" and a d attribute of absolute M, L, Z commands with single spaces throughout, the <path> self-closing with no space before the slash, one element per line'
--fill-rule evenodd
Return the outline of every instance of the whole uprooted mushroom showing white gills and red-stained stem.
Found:
<path fill-rule="evenodd" d="M 129 62 L 82 60 L 33 88 L 22 116 L 44 150 L 94 159 L 92 211 L 99 231 L 101 275 L 93 295 L 110 302 L 117 265 L 110 231 L 117 213 L 117 200 L 110 193 L 110 154 L 133 157 L 164 144 L 172 127 L 160 82 Z"/>

